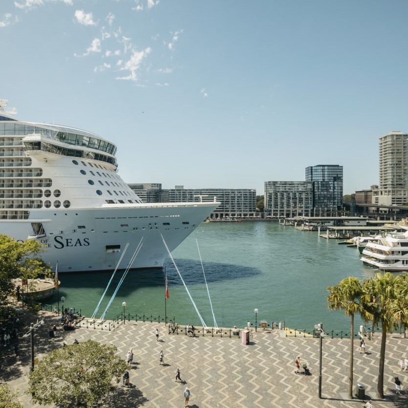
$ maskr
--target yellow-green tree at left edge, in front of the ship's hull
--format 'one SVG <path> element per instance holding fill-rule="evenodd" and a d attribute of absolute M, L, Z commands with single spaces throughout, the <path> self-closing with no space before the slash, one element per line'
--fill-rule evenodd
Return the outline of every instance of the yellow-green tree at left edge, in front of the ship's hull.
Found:
<path fill-rule="evenodd" d="M 35 239 L 18 242 L 0 235 L 0 306 L 9 304 L 15 294 L 13 279 L 35 279 L 49 273 L 50 268 L 38 257 L 42 251 Z"/>

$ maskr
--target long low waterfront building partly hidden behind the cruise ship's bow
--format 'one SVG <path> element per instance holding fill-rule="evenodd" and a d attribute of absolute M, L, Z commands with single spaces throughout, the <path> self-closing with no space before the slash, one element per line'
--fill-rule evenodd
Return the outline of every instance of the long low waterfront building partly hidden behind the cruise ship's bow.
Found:
<path fill-rule="evenodd" d="M 221 204 L 210 218 L 253 217 L 257 212 L 255 189 L 162 189 L 160 183 L 132 183 L 129 187 L 145 203 L 219 201 Z"/>

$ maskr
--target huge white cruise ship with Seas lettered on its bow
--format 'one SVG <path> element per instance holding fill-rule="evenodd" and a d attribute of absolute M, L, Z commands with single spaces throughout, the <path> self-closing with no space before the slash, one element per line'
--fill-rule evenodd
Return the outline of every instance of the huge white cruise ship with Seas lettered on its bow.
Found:
<path fill-rule="evenodd" d="M 59 273 L 161 268 L 220 204 L 143 203 L 117 172 L 114 144 L 22 122 L 7 104 L 0 100 L 0 233 L 39 241 Z"/>

